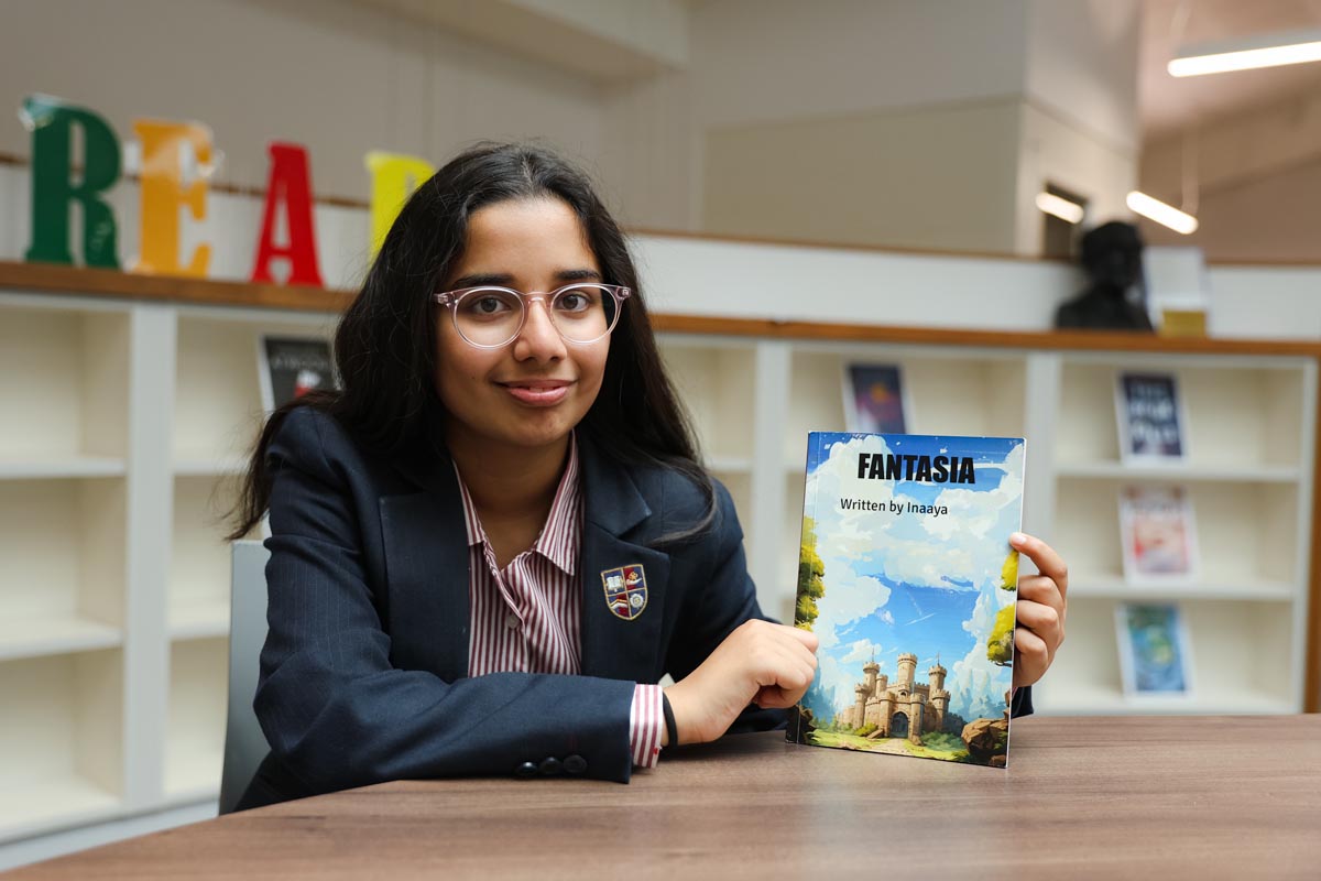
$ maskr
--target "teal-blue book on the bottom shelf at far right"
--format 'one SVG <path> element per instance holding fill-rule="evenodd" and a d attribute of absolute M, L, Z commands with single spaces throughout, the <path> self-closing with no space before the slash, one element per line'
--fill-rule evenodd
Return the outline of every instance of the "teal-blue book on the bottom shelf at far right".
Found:
<path fill-rule="evenodd" d="M 1115 608 L 1115 630 L 1125 695 L 1192 695 L 1188 623 L 1177 605 L 1122 602 Z"/>

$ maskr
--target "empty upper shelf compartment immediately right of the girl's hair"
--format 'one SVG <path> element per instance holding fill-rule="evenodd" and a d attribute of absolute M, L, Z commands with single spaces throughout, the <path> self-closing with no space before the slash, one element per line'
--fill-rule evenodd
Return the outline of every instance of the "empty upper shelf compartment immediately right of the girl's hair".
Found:
<path fill-rule="evenodd" d="M 750 462 L 756 354 L 750 345 L 664 338 L 660 358 L 692 416 L 708 465 Z"/>

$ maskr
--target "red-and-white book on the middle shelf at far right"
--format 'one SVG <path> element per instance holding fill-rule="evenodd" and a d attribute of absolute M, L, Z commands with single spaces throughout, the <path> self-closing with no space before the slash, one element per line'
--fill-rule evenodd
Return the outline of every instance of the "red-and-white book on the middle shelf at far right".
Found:
<path fill-rule="evenodd" d="M 1190 581 L 1197 575 L 1197 528 L 1185 487 L 1122 487 L 1119 531 L 1128 581 Z"/>

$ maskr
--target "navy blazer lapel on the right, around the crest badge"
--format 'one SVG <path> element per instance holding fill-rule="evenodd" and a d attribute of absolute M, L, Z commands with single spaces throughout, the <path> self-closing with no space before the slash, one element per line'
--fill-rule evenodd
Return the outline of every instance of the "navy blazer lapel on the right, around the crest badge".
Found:
<path fill-rule="evenodd" d="M 597 454 L 579 433 L 583 466 L 583 674 L 654 683 L 664 672 L 660 625 L 670 581 L 670 556 L 621 538 L 651 515 L 627 473 Z M 606 604 L 604 577 L 612 569 L 641 565 L 646 606 L 631 619 Z"/>

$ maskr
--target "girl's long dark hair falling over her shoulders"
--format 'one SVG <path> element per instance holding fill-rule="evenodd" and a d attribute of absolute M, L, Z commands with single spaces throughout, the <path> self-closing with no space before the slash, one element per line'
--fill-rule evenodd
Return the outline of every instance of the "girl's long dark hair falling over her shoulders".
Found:
<path fill-rule="evenodd" d="M 273 478 L 267 449 L 296 407 L 329 413 L 359 444 L 379 454 L 400 456 L 428 442 L 429 417 L 443 412 L 433 386 L 436 322 L 431 295 L 462 255 L 468 219 L 474 211 L 536 197 L 564 201 L 583 223 L 602 280 L 633 289 L 610 334 L 601 390 L 579 431 L 605 454 L 625 464 L 671 468 L 700 489 L 704 514 L 660 543 L 682 542 L 711 524 L 711 478 L 699 465 L 692 425 L 662 366 L 618 225 L 587 174 L 553 152 L 532 144 L 480 144 L 423 184 L 390 227 L 362 291 L 336 330 L 341 390 L 305 395 L 267 420 L 231 512 L 230 539 L 246 535 L 266 514 Z"/>

